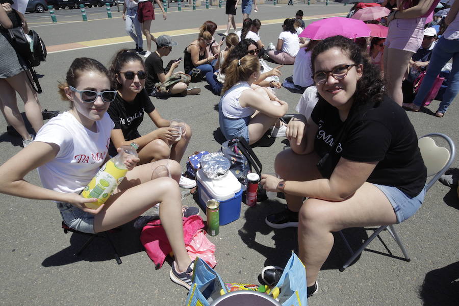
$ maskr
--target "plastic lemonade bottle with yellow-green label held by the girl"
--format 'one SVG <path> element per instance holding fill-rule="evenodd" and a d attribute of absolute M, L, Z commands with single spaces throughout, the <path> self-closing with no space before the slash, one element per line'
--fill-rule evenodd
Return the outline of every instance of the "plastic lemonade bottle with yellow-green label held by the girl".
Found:
<path fill-rule="evenodd" d="M 137 157 L 136 143 L 121 146 L 121 151 L 115 157 L 112 157 L 99 172 L 93 177 L 88 186 L 81 193 L 85 198 L 97 198 L 97 202 L 87 202 L 85 206 L 91 209 L 97 209 L 110 197 L 115 188 L 121 183 L 126 175 L 127 168 L 124 161 L 132 156 Z"/>

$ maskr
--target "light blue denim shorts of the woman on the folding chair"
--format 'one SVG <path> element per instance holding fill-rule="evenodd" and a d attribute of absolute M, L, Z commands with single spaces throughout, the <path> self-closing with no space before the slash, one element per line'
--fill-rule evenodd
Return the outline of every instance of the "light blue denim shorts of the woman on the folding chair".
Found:
<path fill-rule="evenodd" d="M 410 197 L 397 187 L 378 184 L 373 185 L 379 188 L 391 202 L 395 215 L 397 216 L 397 223 L 405 221 L 418 211 L 422 201 L 424 201 L 425 189 L 427 187 L 427 185 L 424 186 L 417 196 Z"/>

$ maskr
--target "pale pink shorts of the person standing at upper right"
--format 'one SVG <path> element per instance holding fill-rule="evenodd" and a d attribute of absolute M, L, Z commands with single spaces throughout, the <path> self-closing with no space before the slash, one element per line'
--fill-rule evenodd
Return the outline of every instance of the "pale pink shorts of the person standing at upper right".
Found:
<path fill-rule="evenodd" d="M 389 23 L 386 48 L 418 52 L 424 38 L 425 17 L 394 19 Z"/>

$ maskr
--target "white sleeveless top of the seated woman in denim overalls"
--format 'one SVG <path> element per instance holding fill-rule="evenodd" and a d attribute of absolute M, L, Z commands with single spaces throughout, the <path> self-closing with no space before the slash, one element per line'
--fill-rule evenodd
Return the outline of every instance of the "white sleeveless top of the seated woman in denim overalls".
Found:
<path fill-rule="evenodd" d="M 239 82 L 228 89 L 221 97 L 221 111 L 226 118 L 239 119 L 253 115 L 255 109 L 241 107 L 239 97 L 244 90 L 250 89 L 247 82 Z"/>

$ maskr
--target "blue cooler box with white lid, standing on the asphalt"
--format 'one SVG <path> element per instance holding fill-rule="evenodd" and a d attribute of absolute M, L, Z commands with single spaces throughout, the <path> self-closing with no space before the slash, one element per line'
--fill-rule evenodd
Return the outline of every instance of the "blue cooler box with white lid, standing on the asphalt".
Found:
<path fill-rule="evenodd" d="M 219 180 L 211 180 L 202 169 L 197 171 L 197 185 L 199 206 L 206 212 L 208 200 L 216 199 L 220 202 L 220 225 L 236 221 L 241 215 L 242 189 L 236 176 L 228 171 Z"/>

